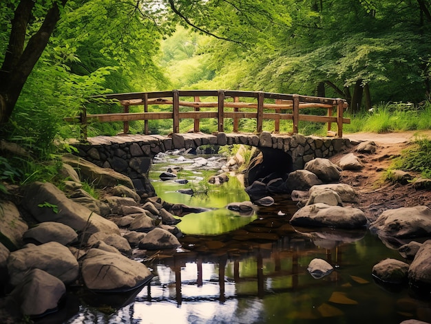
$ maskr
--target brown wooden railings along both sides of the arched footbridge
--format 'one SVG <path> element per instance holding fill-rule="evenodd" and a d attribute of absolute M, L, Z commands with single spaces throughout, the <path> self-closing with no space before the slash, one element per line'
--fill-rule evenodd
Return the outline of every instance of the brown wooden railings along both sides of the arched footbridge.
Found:
<path fill-rule="evenodd" d="M 202 97 L 215 97 L 216 101 L 204 101 Z M 67 122 L 80 122 L 83 126 L 83 136 L 86 138 L 86 126 L 90 122 L 123 122 L 124 133 L 129 132 L 129 122 L 145 120 L 144 133 L 148 134 L 148 120 L 171 119 L 173 132 L 180 132 L 180 120 L 191 118 L 194 120 L 193 131 L 200 131 L 200 119 L 215 118 L 218 120 L 218 131 L 224 131 L 224 120 L 233 119 L 233 132 L 241 131 L 241 118 L 254 118 L 257 133 L 262 132 L 263 120 L 274 120 L 273 131 L 280 131 L 280 120 L 292 120 L 293 133 L 298 132 L 299 121 L 324 122 L 337 124 L 337 136 L 342 137 L 343 124 L 350 124 L 349 118 L 344 118 L 344 110 L 348 107 L 346 100 L 339 98 L 323 98 L 315 96 L 301 96 L 298 94 L 276 94 L 263 91 L 231 91 L 231 90 L 172 90 L 135 92 L 129 94 L 106 94 L 92 98 L 115 100 L 123 106 L 123 113 L 115 114 L 87 114 L 83 109 L 81 116 L 65 118 Z M 193 98 L 193 100 L 185 100 Z M 251 102 L 241 102 L 240 98 L 252 98 Z M 271 100 L 270 100 L 271 99 Z M 250 99 L 249 99 L 250 100 Z M 269 103 L 271 101 L 272 103 Z M 143 106 L 143 112 L 129 112 L 130 106 Z M 151 105 L 171 105 L 172 111 L 149 111 Z M 185 111 L 182 107 L 193 107 L 193 111 Z M 210 108 L 209 110 L 201 110 Z M 212 109 L 211 109 L 212 108 Z M 300 114 L 304 108 L 323 108 L 326 116 Z M 242 111 L 240 109 L 243 109 Z M 246 109 L 246 110 L 244 110 Z"/>

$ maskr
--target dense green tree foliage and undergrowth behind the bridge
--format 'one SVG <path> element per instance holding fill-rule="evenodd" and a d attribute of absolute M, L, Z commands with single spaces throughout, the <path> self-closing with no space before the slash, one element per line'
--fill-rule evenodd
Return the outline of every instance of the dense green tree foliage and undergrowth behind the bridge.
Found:
<path fill-rule="evenodd" d="M 352 130 L 357 120 L 377 131 L 428 128 L 430 10 L 429 0 L 1 1 L 1 136 L 52 158 L 54 142 L 78 136 L 63 118 L 119 109 L 90 96 L 172 88 L 339 97 L 350 102 Z M 121 125 L 92 127 L 112 134 Z M 169 132 L 162 121 L 150 128 Z M 34 173 L 0 164 L 1 179 Z"/>

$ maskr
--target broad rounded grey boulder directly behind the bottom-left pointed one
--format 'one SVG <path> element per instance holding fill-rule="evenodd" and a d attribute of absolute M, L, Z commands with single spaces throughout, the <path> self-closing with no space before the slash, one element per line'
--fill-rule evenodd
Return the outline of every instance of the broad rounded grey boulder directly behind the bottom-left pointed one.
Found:
<path fill-rule="evenodd" d="M 58 242 L 30 245 L 10 253 L 8 271 L 12 285 L 18 285 L 25 274 L 34 268 L 52 274 L 65 284 L 72 283 L 79 272 L 78 261 L 72 252 Z"/>

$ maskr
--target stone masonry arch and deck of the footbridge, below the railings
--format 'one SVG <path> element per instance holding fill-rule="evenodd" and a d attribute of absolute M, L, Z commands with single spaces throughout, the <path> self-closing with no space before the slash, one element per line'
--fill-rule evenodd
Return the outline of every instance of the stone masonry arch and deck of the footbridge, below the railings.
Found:
<path fill-rule="evenodd" d="M 78 155 L 98 166 L 114 169 L 129 176 L 137 191 L 151 191 L 147 179 L 151 160 L 159 152 L 174 149 L 196 149 L 201 145 L 246 144 L 282 150 L 291 155 L 293 169 L 302 169 L 313 158 L 328 158 L 350 146 L 346 138 L 319 138 L 291 136 L 262 132 L 259 135 L 244 133 L 172 134 L 171 136 L 98 136 L 88 143 L 75 144 Z M 152 189 L 154 191 L 154 189 Z"/>

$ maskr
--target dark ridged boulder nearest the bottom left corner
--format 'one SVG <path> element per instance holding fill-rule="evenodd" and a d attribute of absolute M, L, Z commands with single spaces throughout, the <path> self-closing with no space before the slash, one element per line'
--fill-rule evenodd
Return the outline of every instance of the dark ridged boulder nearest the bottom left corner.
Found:
<path fill-rule="evenodd" d="M 12 290 L 9 299 L 27 316 L 43 316 L 56 311 L 66 292 L 63 281 L 40 269 L 30 270 Z"/>

